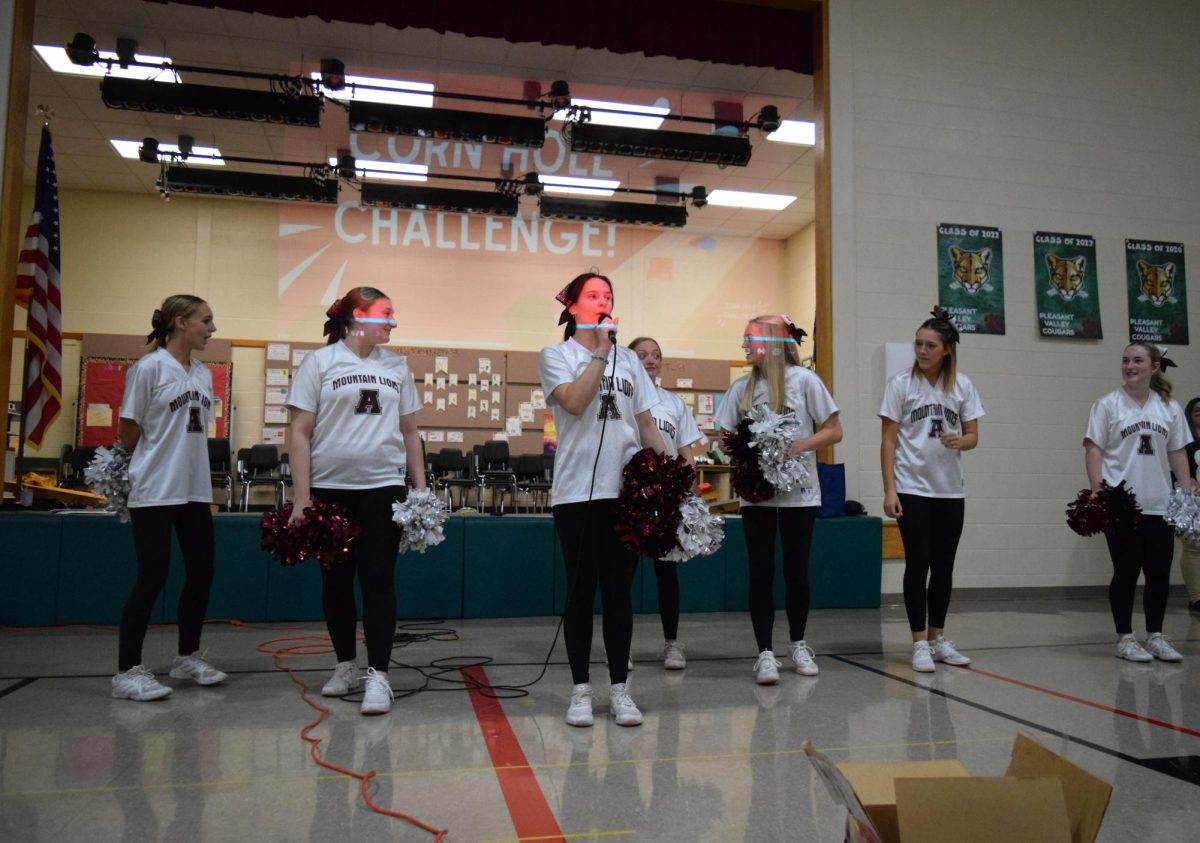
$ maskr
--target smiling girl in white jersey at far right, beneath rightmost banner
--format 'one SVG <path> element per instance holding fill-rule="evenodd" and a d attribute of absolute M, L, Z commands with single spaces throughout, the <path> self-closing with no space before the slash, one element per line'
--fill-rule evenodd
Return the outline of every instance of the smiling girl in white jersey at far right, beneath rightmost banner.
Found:
<path fill-rule="evenodd" d="M 1171 382 L 1163 367 L 1171 365 L 1157 346 L 1133 342 L 1121 355 L 1123 383 L 1092 405 L 1084 437 L 1087 482 L 1092 491 L 1104 480 L 1124 480 L 1141 507 L 1133 530 L 1109 531 L 1104 538 L 1112 558 L 1109 606 L 1116 626 L 1117 658 L 1130 662 L 1178 662 L 1183 657 L 1163 635 L 1170 587 L 1175 532 L 1163 520 L 1171 495 L 1171 472 L 1184 489 L 1194 489 L 1188 476 L 1187 444 L 1192 438 L 1180 405 L 1171 399 Z M 1133 599 L 1138 574 L 1145 574 L 1142 609 L 1145 647 L 1133 634 Z"/>

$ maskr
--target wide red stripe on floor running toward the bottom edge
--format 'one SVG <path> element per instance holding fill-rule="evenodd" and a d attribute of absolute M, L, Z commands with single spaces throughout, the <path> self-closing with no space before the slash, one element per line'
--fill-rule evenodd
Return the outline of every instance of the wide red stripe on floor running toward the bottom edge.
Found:
<path fill-rule="evenodd" d="M 492 767 L 500 783 L 500 793 L 509 806 L 512 827 L 521 839 L 536 838 L 545 843 L 565 843 L 563 830 L 558 827 L 546 795 L 533 775 L 529 761 L 521 749 L 512 725 L 509 723 L 500 701 L 486 693 L 491 688 L 487 674 L 480 666 L 463 668 L 462 675 L 468 680 L 470 704 L 475 709 L 475 719 L 487 742 L 487 752 L 492 757 Z"/>

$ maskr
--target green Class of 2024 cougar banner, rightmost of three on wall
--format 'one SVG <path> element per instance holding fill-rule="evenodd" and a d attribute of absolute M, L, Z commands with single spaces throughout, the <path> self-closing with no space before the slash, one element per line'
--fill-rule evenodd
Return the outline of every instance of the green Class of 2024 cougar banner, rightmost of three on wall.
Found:
<path fill-rule="evenodd" d="M 1126 240 L 1129 341 L 1188 345 L 1183 244 Z"/>

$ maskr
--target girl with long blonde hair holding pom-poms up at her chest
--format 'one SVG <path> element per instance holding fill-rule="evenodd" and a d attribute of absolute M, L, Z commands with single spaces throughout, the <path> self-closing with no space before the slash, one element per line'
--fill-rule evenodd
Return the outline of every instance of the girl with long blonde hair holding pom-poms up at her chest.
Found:
<path fill-rule="evenodd" d="M 742 498 L 750 566 L 750 621 L 758 647 L 754 672 L 758 684 L 779 682 L 780 663 L 772 645 L 776 532 L 784 551 L 788 657 L 796 672 L 817 675 L 812 648 L 805 640 L 809 554 L 821 506 L 816 452 L 841 442 L 841 422 L 838 405 L 821 378 L 800 365 L 804 335 L 786 316 L 760 316 L 746 324 L 742 349 L 754 370 L 730 387 L 715 419 L 724 431 L 730 431 L 727 443 L 739 442 L 734 447 L 733 479 Z M 754 432 L 760 429 L 763 434 Z M 744 441 L 748 430 L 756 438 L 752 448 Z M 786 434 L 782 444 L 781 431 Z M 768 446 L 773 458 L 757 460 L 755 452 Z M 757 462 L 746 465 L 751 460 Z"/>

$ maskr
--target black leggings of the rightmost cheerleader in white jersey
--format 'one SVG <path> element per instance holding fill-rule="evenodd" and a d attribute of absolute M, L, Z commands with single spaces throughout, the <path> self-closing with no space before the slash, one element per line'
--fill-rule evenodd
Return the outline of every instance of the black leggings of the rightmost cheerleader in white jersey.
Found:
<path fill-rule="evenodd" d="M 1170 588 L 1171 561 L 1175 558 L 1175 531 L 1162 515 L 1142 515 L 1133 530 L 1105 533 L 1112 557 L 1109 582 L 1109 608 L 1117 635 L 1133 632 L 1133 597 L 1138 574 L 1146 575 L 1141 608 L 1146 612 L 1146 632 L 1163 632 L 1166 594 Z"/>

